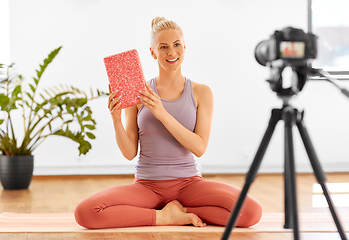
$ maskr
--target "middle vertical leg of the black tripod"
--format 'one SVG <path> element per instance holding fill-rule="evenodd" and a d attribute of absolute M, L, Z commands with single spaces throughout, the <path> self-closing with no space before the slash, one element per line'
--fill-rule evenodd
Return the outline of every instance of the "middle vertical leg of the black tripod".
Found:
<path fill-rule="evenodd" d="M 288 204 L 287 206 L 285 206 L 285 210 L 290 210 L 292 214 L 288 215 L 285 212 L 285 225 L 289 224 L 289 222 L 292 222 L 293 236 L 295 240 L 298 240 L 299 224 L 297 206 L 296 168 L 294 163 L 292 134 L 292 127 L 295 123 L 296 112 L 293 108 L 285 108 L 285 114 L 283 117 L 285 121 L 285 198 L 288 198 Z"/>

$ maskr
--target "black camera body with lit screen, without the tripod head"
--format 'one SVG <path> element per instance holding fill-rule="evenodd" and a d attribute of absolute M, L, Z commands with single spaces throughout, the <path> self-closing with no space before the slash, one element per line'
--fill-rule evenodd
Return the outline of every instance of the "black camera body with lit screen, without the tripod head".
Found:
<path fill-rule="evenodd" d="M 263 66 L 277 59 L 282 59 L 285 65 L 299 66 L 316 56 L 316 35 L 293 27 L 275 31 L 270 39 L 260 42 L 255 49 L 255 58 Z"/>

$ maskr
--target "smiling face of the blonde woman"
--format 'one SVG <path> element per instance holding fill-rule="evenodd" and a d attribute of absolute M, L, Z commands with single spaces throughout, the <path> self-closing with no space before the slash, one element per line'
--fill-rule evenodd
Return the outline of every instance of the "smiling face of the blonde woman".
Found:
<path fill-rule="evenodd" d="M 160 31 L 150 52 L 157 59 L 159 68 L 169 71 L 180 69 L 185 53 L 182 34 L 176 29 Z"/>

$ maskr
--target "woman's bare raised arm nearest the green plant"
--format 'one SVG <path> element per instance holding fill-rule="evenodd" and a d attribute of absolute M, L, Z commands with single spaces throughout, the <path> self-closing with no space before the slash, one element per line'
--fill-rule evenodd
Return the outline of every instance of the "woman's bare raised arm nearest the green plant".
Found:
<path fill-rule="evenodd" d="M 121 122 L 121 109 L 118 109 L 120 97 L 113 92 L 109 96 L 109 110 L 112 115 L 115 130 L 116 142 L 122 155 L 128 160 L 132 160 L 138 153 L 138 125 L 137 125 L 137 106 L 125 109 L 126 123 L 125 128 Z"/>

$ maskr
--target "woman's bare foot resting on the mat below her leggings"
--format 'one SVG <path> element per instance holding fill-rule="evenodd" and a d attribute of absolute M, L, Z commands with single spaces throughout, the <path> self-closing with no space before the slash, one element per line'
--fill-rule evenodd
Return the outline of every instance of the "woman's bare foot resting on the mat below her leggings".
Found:
<path fill-rule="evenodd" d="M 183 205 L 177 200 L 167 203 L 163 209 L 156 210 L 155 225 L 182 226 L 193 224 L 195 227 L 206 226 L 206 223 L 204 223 L 196 214 L 185 213 L 182 208 Z"/>

